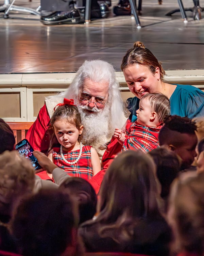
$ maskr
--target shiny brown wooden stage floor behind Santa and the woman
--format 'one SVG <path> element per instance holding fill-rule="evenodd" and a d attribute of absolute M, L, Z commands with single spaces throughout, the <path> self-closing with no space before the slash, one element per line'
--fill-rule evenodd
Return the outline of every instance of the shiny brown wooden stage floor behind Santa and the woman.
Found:
<path fill-rule="evenodd" d="M 192 0 L 183 3 L 185 8 L 193 6 Z M 40 1 L 15 4 L 36 9 Z M 143 0 L 141 29 L 131 16 L 111 14 L 88 25 L 46 26 L 36 15 L 12 11 L 4 19 L 0 13 L 0 74 L 75 72 L 86 59 L 106 60 L 120 71 L 122 57 L 135 41 L 142 41 L 165 70 L 204 69 L 204 12 L 201 20 L 186 12 L 184 24 L 180 12 L 165 16 L 177 8 L 177 0 L 163 0 L 162 5 Z"/>

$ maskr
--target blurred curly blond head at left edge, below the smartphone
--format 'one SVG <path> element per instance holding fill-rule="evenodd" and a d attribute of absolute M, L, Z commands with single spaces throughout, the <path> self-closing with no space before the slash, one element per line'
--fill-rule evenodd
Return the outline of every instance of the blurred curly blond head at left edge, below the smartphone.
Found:
<path fill-rule="evenodd" d="M 23 196 L 31 194 L 35 173 L 30 161 L 16 150 L 0 154 L 0 214 L 11 215 Z"/>

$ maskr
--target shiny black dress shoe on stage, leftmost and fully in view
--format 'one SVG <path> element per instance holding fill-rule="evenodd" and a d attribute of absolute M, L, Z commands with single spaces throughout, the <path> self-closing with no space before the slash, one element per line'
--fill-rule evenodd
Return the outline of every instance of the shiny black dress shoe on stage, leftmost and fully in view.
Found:
<path fill-rule="evenodd" d="M 41 16 L 40 22 L 45 25 L 79 24 L 81 17 L 77 9 L 68 12 L 55 12 L 49 16 Z"/>

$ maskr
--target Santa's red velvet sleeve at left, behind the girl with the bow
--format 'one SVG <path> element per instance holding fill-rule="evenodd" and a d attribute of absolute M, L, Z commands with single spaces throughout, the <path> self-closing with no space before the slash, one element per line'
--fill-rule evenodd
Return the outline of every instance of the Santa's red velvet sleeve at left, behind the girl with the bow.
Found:
<path fill-rule="evenodd" d="M 48 128 L 50 117 L 46 104 L 40 109 L 37 119 L 26 134 L 26 139 L 30 142 L 34 150 L 47 153 L 50 143 Z"/>

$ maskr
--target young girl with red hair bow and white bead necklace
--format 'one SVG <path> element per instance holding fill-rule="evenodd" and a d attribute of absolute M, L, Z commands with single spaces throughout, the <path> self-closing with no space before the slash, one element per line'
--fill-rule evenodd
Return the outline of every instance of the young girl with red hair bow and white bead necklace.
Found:
<path fill-rule="evenodd" d="M 93 147 L 80 142 L 83 125 L 73 100 L 64 99 L 57 106 L 50 119 L 53 133 L 48 157 L 67 174 L 89 180 L 101 170 L 99 156 Z M 60 145 L 53 147 L 56 139 Z"/>

